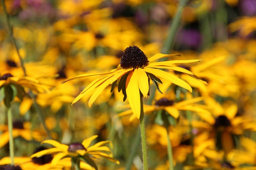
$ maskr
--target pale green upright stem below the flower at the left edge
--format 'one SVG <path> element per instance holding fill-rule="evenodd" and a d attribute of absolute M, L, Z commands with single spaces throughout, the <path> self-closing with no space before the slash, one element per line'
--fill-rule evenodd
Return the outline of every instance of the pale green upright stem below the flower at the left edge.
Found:
<path fill-rule="evenodd" d="M 14 142 L 13 142 L 13 136 L 12 136 L 12 111 L 11 111 L 11 108 L 8 108 L 7 117 L 8 117 L 8 131 L 9 131 L 9 137 L 10 137 L 9 148 L 10 148 L 11 165 L 14 165 Z"/>

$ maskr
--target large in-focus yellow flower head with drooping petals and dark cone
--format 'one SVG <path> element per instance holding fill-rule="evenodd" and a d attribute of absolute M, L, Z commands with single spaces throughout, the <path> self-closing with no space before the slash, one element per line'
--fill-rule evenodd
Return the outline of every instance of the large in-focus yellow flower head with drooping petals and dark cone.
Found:
<path fill-rule="evenodd" d="M 163 58 L 176 56 L 178 54 L 165 55 L 161 53 L 157 53 L 151 58 L 147 58 L 143 51 L 141 51 L 137 46 L 130 46 L 124 50 L 124 54 L 121 58 L 120 64 L 116 69 L 111 70 L 110 72 L 104 73 L 95 73 L 95 74 L 82 74 L 73 78 L 69 78 L 64 80 L 62 83 L 67 82 L 69 80 L 74 80 L 77 78 L 83 78 L 88 76 L 95 75 L 104 75 L 100 78 L 97 78 L 93 82 L 91 82 L 73 101 L 72 104 L 76 103 L 83 96 L 86 96 L 89 92 L 94 93 L 89 99 L 88 105 L 92 106 L 96 98 L 100 95 L 100 93 L 110 84 L 112 84 L 111 92 L 114 90 L 117 81 L 118 81 L 118 92 L 122 90 L 124 94 L 124 101 L 126 98 L 132 108 L 133 113 L 137 118 L 140 117 L 140 93 L 143 97 L 148 96 L 149 92 L 149 80 L 151 79 L 159 92 L 158 82 L 162 83 L 162 81 L 158 78 L 164 78 L 178 86 L 181 86 L 190 92 L 192 92 L 192 88 L 188 83 L 181 80 L 180 78 L 174 76 L 173 74 L 167 73 L 161 69 L 171 69 L 180 72 L 184 72 L 190 76 L 194 76 L 194 74 L 184 68 L 180 68 L 174 66 L 175 63 L 193 63 L 200 62 L 202 60 L 183 60 L 183 61 L 162 61 L 155 62 L 153 61 Z M 162 92 L 161 92 L 162 93 Z"/>

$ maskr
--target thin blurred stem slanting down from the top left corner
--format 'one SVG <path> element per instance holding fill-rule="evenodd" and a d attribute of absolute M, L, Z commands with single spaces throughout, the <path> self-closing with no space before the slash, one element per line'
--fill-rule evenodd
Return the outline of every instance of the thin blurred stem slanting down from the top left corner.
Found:
<path fill-rule="evenodd" d="M 1 3 L 2 3 L 3 10 L 4 10 L 4 16 L 5 16 L 5 19 L 6 19 L 6 23 L 7 23 L 7 32 L 8 32 L 8 35 L 9 35 L 9 37 L 10 37 L 10 39 L 11 39 L 11 41 L 12 41 L 14 47 L 15 47 L 16 52 L 17 52 L 17 54 L 18 54 L 18 57 L 19 57 L 19 59 L 20 59 L 20 65 L 21 65 L 22 70 L 23 70 L 23 72 L 24 72 L 24 76 L 26 76 L 26 69 L 25 69 L 25 67 L 24 67 L 24 62 L 23 62 L 22 57 L 20 56 L 20 52 L 19 52 L 19 49 L 18 49 L 18 45 L 17 45 L 17 43 L 16 43 L 16 41 L 15 41 L 15 39 L 14 39 L 14 36 L 13 36 L 12 27 L 11 27 L 11 24 L 10 24 L 10 18 L 9 18 L 9 15 L 8 15 L 8 13 L 7 13 L 7 10 L 6 10 L 6 6 L 5 6 L 5 4 L 4 4 L 4 0 L 1 0 Z"/>

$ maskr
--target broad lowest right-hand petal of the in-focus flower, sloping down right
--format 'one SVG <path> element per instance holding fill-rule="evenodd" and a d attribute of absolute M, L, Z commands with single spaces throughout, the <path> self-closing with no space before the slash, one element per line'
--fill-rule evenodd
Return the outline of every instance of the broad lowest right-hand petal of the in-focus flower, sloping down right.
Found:
<path fill-rule="evenodd" d="M 166 80 L 169 80 L 170 82 L 187 89 L 189 92 L 192 92 L 192 88 L 190 87 L 190 85 L 187 82 L 185 82 L 184 80 L 181 80 L 180 78 L 174 76 L 173 74 L 170 74 L 170 73 L 162 71 L 162 70 L 158 70 L 156 68 L 144 67 L 144 70 L 146 72 L 154 74 L 155 76 L 162 77 Z"/>

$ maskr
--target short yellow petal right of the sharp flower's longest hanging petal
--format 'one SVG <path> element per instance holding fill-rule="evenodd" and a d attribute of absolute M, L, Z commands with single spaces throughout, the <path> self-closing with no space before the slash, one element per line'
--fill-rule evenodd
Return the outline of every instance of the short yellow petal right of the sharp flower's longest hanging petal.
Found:
<path fill-rule="evenodd" d="M 149 84 L 148 76 L 142 68 L 134 69 L 134 76 L 137 79 L 140 92 L 142 92 L 144 98 L 148 96 Z"/>

